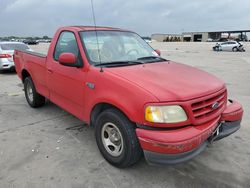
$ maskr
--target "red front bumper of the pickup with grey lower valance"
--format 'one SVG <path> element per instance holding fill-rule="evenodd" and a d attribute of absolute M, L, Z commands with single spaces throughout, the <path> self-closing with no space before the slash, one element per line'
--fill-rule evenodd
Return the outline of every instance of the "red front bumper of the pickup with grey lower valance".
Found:
<path fill-rule="evenodd" d="M 199 155 L 213 141 L 220 140 L 240 128 L 242 106 L 229 100 L 222 115 L 198 126 L 174 130 L 136 129 L 136 134 L 148 163 L 176 164 Z"/>

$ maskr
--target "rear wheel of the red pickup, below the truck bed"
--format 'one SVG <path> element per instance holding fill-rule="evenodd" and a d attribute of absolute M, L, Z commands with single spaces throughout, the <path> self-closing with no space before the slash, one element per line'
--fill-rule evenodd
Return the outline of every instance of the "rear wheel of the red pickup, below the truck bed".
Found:
<path fill-rule="evenodd" d="M 26 100 L 32 108 L 38 108 L 45 104 L 45 97 L 37 93 L 31 77 L 27 77 L 24 80 L 24 92 Z"/>

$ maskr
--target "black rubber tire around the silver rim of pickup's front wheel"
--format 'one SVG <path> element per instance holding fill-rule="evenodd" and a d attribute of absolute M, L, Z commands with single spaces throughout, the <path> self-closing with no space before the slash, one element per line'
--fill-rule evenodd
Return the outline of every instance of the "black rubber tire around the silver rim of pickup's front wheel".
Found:
<path fill-rule="evenodd" d="M 114 124 L 121 133 L 123 147 L 118 156 L 111 155 L 104 146 L 102 130 L 107 123 Z M 98 116 L 95 123 L 95 138 L 103 157 L 116 167 L 125 168 L 131 166 L 142 156 L 142 149 L 135 133 L 135 125 L 116 109 L 107 109 Z"/>

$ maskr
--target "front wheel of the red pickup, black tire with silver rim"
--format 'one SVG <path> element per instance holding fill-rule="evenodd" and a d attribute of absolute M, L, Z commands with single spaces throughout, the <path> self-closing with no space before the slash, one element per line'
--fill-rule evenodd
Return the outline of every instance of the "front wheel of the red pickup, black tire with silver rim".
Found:
<path fill-rule="evenodd" d="M 103 157 L 118 168 L 131 166 L 142 156 L 134 124 L 116 109 L 107 109 L 98 116 L 95 138 Z"/>

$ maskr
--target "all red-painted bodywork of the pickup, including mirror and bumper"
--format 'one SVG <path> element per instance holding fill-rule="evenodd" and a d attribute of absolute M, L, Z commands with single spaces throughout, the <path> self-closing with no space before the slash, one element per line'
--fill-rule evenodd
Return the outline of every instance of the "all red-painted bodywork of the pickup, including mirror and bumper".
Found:
<path fill-rule="evenodd" d="M 54 35 L 47 57 L 15 51 L 14 61 L 18 76 L 22 78 L 22 71 L 27 71 L 40 94 L 87 123 L 90 123 L 90 115 L 95 105 L 108 103 L 120 109 L 137 124 L 155 128 L 176 128 L 154 131 L 137 128 L 136 133 L 142 148 L 149 151 L 189 151 L 204 142 L 219 121 L 236 121 L 242 118 L 243 110 L 238 103 L 226 107 L 227 91 L 224 82 L 194 67 L 172 61 L 103 68 L 103 71 L 100 71 L 100 67 L 91 66 L 79 31 L 94 29 L 60 28 Z M 75 34 L 83 67 L 63 66 L 53 59 L 59 34 L 65 30 Z M 120 31 L 105 27 L 98 27 L 97 30 Z M 62 62 L 75 61 L 72 54 L 63 54 L 59 59 Z M 86 83 L 92 83 L 94 88 L 89 88 Z M 215 102 L 219 106 L 212 109 Z M 147 122 L 144 111 L 150 104 L 180 105 L 188 120 L 169 124 Z"/>

